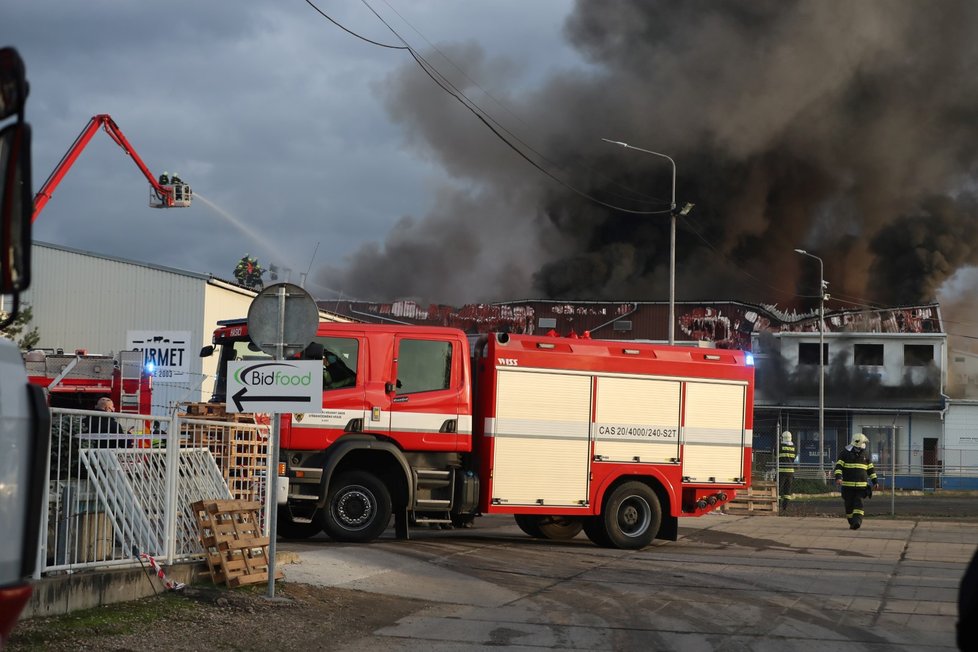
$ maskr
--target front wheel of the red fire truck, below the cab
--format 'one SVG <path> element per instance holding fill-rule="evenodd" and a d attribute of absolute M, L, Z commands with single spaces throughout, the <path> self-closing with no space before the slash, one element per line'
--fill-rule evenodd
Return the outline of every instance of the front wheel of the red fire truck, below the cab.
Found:
<path fill-rule="evenodd" d="M 390 491 L 375 476 L 350 471 L 333 480 L 326 499 L 324 526 L 334 541 L 373 541 L 387 529 L 390 520 Z"/>

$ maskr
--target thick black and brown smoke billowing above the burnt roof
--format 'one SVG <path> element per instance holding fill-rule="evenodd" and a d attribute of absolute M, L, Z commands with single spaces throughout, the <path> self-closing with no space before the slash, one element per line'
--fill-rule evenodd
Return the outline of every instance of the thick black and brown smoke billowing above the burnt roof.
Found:
<path fill-rule="evenodd" d="M 976 32 L 967 1 L 581 0 L 565 33 L 587 65 L 535 87 L 477 46 L 439 48 L 466 71 L 453 82 L 576 190 L 668 208 L 668 161 L 603 137 L 676 161 L 677 202 L 696 204 L 679 220 L 682 300 L 816 295 L 803 247 L 834 296 L 907 304 L 978 263 Z M 549 179 L 413 62 L 382 93 L 446 178 L 428 215 L 321 270 L 323 285 L 457 305 L 667 296 L 667 215 Z"/>

